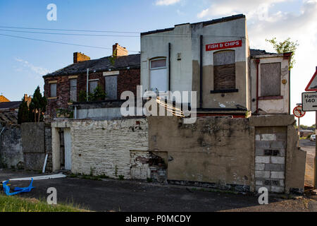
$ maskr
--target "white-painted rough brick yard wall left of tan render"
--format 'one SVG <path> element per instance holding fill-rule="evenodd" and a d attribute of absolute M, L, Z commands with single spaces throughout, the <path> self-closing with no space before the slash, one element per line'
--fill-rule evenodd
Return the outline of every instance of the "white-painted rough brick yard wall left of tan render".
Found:
<path fill-rule="evenodd" d="M 72 172 L 113 178 L 122 175 L 125 179 L 148 177 L 147 119 L 74 120 L 70 133 Z"/>

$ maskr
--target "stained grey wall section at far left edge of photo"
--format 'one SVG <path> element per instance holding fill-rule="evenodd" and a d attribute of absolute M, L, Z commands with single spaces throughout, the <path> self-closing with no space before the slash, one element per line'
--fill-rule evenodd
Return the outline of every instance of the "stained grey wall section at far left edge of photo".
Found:
<path fill-rule="evenodd" d="M 2 129 L 4 131 L 1 133 Z M 0 167 L 23 167 L 23 151 L 20 126 L 0 124 Z"/>

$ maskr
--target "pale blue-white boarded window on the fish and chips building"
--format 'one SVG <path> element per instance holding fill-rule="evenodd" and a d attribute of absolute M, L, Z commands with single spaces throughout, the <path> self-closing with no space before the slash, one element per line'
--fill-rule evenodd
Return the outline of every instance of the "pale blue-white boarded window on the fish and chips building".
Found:
<path fill-rule="evenodd" d="M 150 89 L 154 92 L 166 92 L 168 90 L 166 59 L 151 60 Z"/>

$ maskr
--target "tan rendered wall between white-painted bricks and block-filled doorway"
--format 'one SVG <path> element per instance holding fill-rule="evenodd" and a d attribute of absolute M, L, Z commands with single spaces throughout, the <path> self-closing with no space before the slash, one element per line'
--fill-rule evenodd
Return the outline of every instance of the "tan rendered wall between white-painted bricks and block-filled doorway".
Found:
<path fill-rule="evenodd" d="M 195 124 L 182 124 L 175 117 L 149 117 L 149 150 L 168 153 L 169 181 L 249 191 L 254 177 L 250 141 L 254 128 L 248 119 L 202 117 Z"/>

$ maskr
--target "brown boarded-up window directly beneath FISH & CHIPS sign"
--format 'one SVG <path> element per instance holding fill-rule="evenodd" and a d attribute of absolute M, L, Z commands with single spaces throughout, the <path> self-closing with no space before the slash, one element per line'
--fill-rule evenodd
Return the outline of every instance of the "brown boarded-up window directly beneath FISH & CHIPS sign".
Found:
<path fill-rule="evenodd" d="M 235 89 L 235 51 L 213 54 L 213 90 Z"/>

